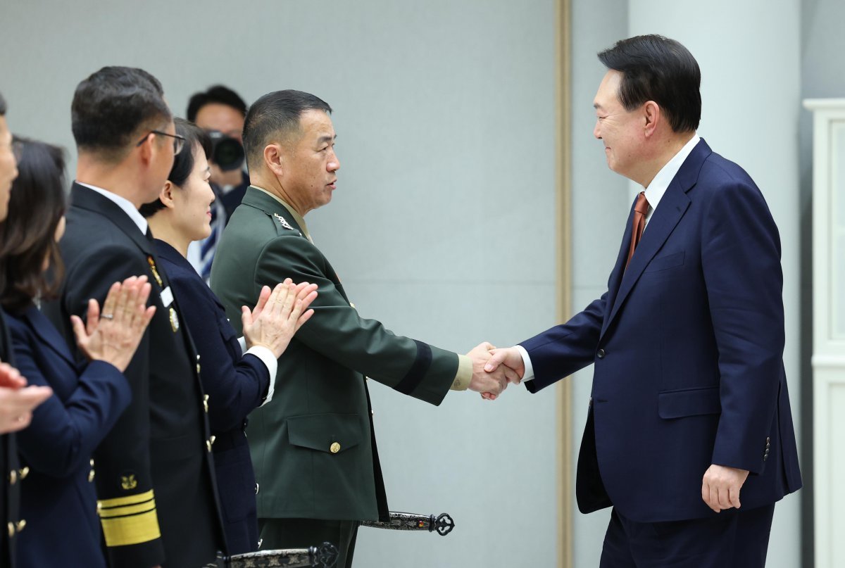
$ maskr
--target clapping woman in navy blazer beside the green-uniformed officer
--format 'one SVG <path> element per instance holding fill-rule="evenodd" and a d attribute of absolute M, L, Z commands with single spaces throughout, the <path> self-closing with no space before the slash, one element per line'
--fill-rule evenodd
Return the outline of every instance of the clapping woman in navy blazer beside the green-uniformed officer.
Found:
<path fill-rule="evenodd" d="M 159 199 L 141 208 L 155 235 L 156 252 L 179 298 L 184 324 L 202 361 L 199 378 L 208 396 L 217 490 L 220 494 L 226 553 L 258 549 L 253 464 L 244 428 L 247 415 L 273 396 L 276 359 L 291 337 L 313 314 L 308 309 L 315 285 L 264 287 L 259 303 L 243 307 L 244 338 L 226 319 L 226 311 L 185 257 L 188 244 L 210 235 L 210 206 L 215 200 L 208 182 L 211 143 L 203 130 L 176 119 L 185 139 Z M 243 341 L 243 344 L 242 342 Z M 248 348 L 247 348 L 248 347 Z M 245 352 L 244 352 L 245 351 Z"/>

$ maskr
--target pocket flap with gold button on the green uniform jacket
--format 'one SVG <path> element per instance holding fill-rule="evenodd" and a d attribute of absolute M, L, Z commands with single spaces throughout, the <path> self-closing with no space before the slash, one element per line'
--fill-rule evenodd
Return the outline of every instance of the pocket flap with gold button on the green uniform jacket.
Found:
<path fill-rule="evenodd" d="M 291 445 L 336 454 L 361 443 L 358 414 L 309 414 L 287 419 Z"/>

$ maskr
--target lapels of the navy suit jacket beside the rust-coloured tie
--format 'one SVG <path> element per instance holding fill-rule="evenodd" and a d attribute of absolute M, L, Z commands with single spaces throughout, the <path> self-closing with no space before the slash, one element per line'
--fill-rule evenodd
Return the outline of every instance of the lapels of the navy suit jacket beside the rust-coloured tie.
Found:
<path fill-rule="evenodd" d="M 625 298 L 628 298 L 628 294 L 636 281 L 640 279 L 643 270 L 646 270 L 648 263 L 657 254 L 657 251 L 662 248 L 663 243 L 666 243 L 666 239 L 669 238 L 669 235 L 672 234 L 681 217 L 684 216 L 684 213 L 690 207 L 690 197 L 686 193 L 695 186 L 695 183 L 698 181 L 698 173 L 701 171 L 701 165 L 711 153 L 710 146 L 707 145 L 704 139 L 701 139 L 701 142 L 695 146 L 690 156 L 684 161 L 684 164 L 673 178 L 672 183 L 669 183 L 669 187 L 666 189 L 666 193 L 663 194 L 660 204 L 651 214 L 651 219 L 649 219 L 646 225 L 646 231 L 642 233 L 642 239 L 637 245 L 634 256 L 631 257 L 628 270 L 625 270 L 624 264 L 628 258 L 627 251 L 630 246 L 631 222 L 633 219 L 633 207 L 631 208 L 631 214 L 625 226 L 623 246 L 619 250 L 619 258 L 616 260 L 616 266 L 611 273 L 610 284 L 613 286 L 615 278 L 619 281 L 619 290 L 613 295 L 613 298 L 610 298 L 610 294 L 613 294 L 615 287 L 608 290 L 608 305 L 612 306 L 612 308 L 608 317 L 604 320 L 604 325 L 602 325 L 602 336 L 608 330 L 616 314 L 619 314 L 619 309 L 622 308 Z"/>

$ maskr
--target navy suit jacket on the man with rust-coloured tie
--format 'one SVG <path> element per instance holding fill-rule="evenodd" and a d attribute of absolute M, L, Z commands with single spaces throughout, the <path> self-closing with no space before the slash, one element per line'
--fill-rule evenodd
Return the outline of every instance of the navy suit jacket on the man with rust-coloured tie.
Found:
<path fill-rule="evenodd" d="M 632 218 L 608 292 L 521 342 L 532 392 L 595 364 L 579 508 L 614 505 L 640 522 L 715 515 L 701 500 L 714 463 L 750 471 L 743 509 L 799 489 L 780 238 L 760 190 L 701 140 L 625 270 Z"/>

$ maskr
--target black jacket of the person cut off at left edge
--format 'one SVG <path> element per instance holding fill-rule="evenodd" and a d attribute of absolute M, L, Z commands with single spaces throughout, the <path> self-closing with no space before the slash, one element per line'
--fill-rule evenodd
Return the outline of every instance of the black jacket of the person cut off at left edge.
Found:
<path fill-rule="evenodd" d="M 5 314 L 0 309 L 0 360 L 14 367 L 12 341 L 4 320 Z M 14 548 L 17 532 L 20 503 L 20 485 L 18 483 L 18 451 L 15 434 L 0 434 L 0 568 L 14 566 Z"/>

